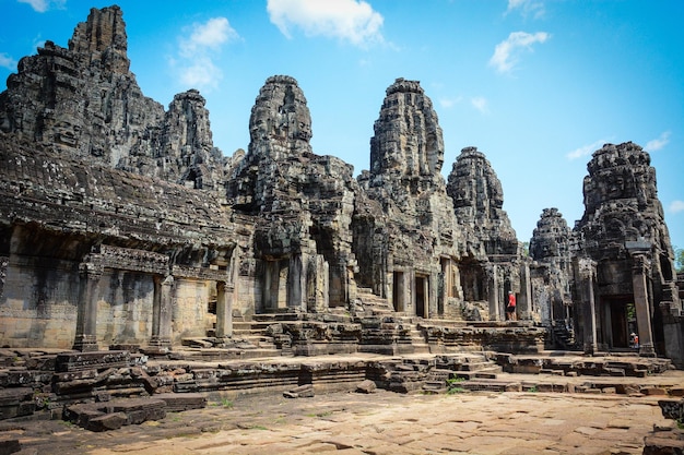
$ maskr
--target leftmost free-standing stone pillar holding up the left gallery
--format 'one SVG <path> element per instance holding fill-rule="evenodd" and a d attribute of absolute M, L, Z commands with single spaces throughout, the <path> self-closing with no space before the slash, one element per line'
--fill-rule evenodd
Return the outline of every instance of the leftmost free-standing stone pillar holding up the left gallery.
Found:
<path fill-rule="evenodd" d="M 99 349 L 97 346 L 97 286 L 103 272 L 99 264 L 92 262 L 83 262 L 79 267 L 81 279 L 74 350 L 83 352 Z"/>

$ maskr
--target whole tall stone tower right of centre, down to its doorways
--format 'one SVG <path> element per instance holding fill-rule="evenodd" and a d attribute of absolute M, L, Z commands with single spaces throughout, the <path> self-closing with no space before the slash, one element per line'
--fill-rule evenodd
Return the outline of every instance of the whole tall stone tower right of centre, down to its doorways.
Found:
<path fill-rule="evenodd" d="M 370 170 L 358 182 L 384 218 L 355 225 L 359 279 L 372 279 L 397 311 L 456 314 L 462 242 L 440 172 L 441 128 L 417 81 L 398 79 L 387 88 L 374 130 Z"/>

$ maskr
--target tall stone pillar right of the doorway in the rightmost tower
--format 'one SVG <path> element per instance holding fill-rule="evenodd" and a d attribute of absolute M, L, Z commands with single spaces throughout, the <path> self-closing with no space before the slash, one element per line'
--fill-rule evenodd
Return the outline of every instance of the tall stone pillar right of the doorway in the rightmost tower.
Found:
<path fill-rule="evenodd" d="M 654 357 L 653 332 L 651 328 L 651 310 L 649 304 L 648 277 L 651 261 L 646 253 L 632 253 L 632 292 L 637 313 L 639 331 L 639 356 Z"/>

